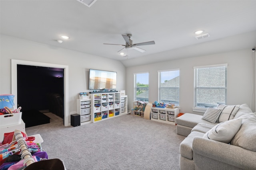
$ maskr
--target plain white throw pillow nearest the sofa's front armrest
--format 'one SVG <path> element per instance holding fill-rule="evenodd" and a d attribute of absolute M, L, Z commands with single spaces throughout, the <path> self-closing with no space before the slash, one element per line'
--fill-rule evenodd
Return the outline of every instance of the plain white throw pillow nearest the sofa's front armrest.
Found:
<path fill-rule="evenodd" d="M 204 134 L 204 138 L 230 143 L 242 125 L 242 118 L 232 119 L 215 125 Z"/>

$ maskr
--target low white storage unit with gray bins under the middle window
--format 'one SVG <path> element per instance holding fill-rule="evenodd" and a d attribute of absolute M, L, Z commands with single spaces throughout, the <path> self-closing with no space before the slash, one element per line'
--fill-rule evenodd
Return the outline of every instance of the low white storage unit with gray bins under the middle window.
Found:
<path fill-rule="evenodd" d="M 162 107 L 151 107 L 151 120 L 175 125 L 179 112 L 179 108 L 168 109 Z"/>

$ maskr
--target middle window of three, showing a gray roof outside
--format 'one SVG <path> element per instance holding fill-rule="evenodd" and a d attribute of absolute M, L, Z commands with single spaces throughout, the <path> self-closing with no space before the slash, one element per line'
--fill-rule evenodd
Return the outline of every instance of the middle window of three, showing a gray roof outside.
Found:
<path fill-rule="evenodd" d="M 180 70 L 158 71 L 158 102 L 180 106 Z"/>

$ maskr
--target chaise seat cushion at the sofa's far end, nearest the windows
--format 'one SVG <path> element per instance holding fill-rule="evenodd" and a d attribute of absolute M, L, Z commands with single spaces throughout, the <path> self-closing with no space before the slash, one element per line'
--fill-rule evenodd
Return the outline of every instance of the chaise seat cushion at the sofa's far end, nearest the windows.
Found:
<path fill-rule="evenodd" d="M 198 123 L 207 123 L 211 124 L 210 122 L 203 120 L 202 115 L 196 115 L 192 113 L 185 113 L 184 115 L 176 118 L 176 124 L 186 126 L 186 127 L 195 127 Z M 214 123 L 218 124 L 218 123 Z"/>

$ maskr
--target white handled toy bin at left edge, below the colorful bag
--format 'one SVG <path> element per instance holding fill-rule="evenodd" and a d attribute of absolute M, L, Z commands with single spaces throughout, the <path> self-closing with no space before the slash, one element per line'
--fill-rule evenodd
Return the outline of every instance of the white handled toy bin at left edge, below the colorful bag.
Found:
<path fill-rule="evenodd" d="M 9 126 L 21 123 L 22 112 L 0 115 L 0 126 Z"/>

